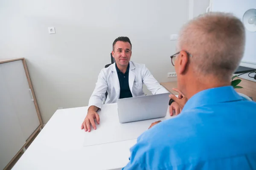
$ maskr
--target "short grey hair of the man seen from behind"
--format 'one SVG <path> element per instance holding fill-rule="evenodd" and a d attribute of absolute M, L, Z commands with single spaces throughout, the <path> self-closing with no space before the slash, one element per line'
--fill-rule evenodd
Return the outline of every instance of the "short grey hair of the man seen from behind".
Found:
<path fill-rule="evenodd" d="M 230 79 L 244 54 L 243 23 L 232 14 L 212 12 L 189 21 L 180 32 L 179 50 L 192 57 L 189 62 L 201 76 Z"/>

